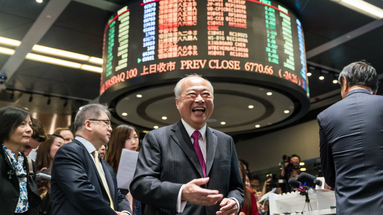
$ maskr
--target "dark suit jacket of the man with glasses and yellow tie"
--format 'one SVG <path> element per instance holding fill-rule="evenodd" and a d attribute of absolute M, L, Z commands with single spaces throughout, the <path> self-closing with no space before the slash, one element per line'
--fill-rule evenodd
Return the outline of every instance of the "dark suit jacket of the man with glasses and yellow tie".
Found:
<path fill-rule="evenodd" d="M 113 169 L 103 159 L 100 161 L 115 210 L 131 213 L 128 200 L 117 188 Z M 54 215 L 116 215 L 94 161 L 78 140 L 63 145 L 54 156 L 51 202 Z"/>

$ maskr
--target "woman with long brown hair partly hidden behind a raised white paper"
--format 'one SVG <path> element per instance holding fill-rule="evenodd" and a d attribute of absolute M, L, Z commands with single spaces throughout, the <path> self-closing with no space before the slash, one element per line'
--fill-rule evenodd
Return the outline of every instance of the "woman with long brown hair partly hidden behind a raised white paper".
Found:
<path fill-rule="evenodd" d="M 123 124 L 113 130 L 105 161 L 113 168 L 115 174 L 117 174 L 118 171 L 122 149 L 125 148 L 132 151 L 138 151 L 138 145 L 139 135 L 138 130 L 135 127 Z M 133 199 L 128 190 L 121 189 L 121 193 L 126 195 L 126 198 L 129 200 L 133 212 L 132 215 L 141 215 L 141 202 Z"/>

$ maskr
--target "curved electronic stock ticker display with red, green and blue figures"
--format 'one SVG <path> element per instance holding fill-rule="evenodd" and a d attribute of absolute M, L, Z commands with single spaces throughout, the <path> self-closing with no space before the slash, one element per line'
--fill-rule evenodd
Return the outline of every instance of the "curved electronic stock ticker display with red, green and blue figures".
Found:
<path fill-rule="evenodd" d="M 132 2 L 106 25 L 100 94 L 128 79 L 208 69 L 275 76 L 308 96 L 303 38 L 300 21 L 275 1 Z"/>

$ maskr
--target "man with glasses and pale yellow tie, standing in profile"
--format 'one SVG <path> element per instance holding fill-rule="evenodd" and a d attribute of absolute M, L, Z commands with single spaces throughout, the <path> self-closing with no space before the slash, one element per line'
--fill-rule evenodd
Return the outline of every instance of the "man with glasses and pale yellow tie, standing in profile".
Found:
<path fill-rule="evenodd" d="M 128 200 L 117 189 L 113 169 L 97 151 L 109 142 L 110 112 L 101 104 L 82 107 L 75 117 L 76 137 L 59 148 L 52 165 L 54 215 L 131 215 Z"/>

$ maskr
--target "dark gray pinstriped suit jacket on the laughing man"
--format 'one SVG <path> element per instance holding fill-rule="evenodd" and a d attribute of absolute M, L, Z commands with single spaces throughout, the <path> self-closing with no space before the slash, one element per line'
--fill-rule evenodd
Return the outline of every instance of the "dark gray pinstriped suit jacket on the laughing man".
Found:
<path fill-rule="evenodd" d="M 206 176 L 210 181 L 201 187 L 218 190 L 224 198 L 236 198 L 242 208 L 243 184 L 233 139 L 209 127 Z M 175 214 L 182 184 L 197 178 L 203 178 L 201 165 L 185 127 L 178 121 L 145 135 L 130 191 L 134 199 L 146 204 L 145 215 Z M 204 207 L 187 202 L 180 214 L 212 215 L 221 208 L 219 203 Z"/>

